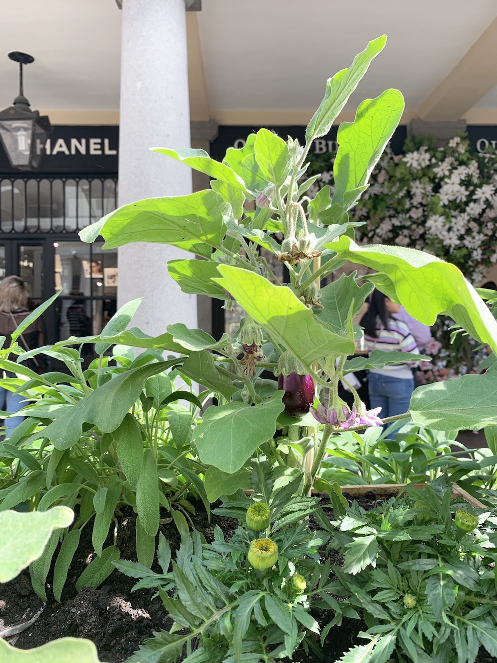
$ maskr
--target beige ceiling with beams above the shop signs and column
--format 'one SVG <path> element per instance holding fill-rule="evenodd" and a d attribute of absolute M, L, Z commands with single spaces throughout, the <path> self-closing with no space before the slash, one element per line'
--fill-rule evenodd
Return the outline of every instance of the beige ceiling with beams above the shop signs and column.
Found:
<path fill-rule="evenodd" d="M 305 123 L 326 78 L 386 33 L 346 115 L 395 87 L 406 97 L 404 121 L 440 119 L 432 116 L 457 99 L 470 122 L 497 123 L 497 67 L 484 66 L 496 61 L 497 39 L 482 38 L 497 19 L 495 0 L 203 0 L 188 19 L 193 119 Z M 115 0 L 4 2 L 0 107 L 17 88 L 7 52 L 26 50 L 36 58 L 25 75 L 32 107 L 54 123 L 116 123 L 120 32 Z"/>

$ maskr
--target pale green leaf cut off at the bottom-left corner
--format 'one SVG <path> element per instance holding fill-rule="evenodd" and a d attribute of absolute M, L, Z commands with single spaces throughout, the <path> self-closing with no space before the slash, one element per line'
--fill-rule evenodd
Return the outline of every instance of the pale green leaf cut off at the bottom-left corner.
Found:
<path fill-rule="evenodd" d="M 59 638 L 34 649 L 17 649 L 0 638 L 2 663 L 99 663 L 91 640 Z"/>

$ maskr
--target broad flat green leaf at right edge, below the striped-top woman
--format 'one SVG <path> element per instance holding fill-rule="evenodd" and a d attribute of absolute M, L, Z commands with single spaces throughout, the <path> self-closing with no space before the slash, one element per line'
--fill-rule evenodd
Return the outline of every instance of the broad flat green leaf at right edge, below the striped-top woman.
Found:
<path fill-rule="evenodd" d="M 417 387 L 410 412 L 415 424 L 434 430 L 480 430 L 497 424 L 497 367 Z"/>

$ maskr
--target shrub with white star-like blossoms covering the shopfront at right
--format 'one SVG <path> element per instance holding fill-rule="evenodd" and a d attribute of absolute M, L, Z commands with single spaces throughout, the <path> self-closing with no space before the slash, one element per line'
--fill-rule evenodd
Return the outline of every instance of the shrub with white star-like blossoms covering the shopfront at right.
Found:
<path fill-rule="evenodd" d="M 321 170 L 316 189 L 333 190 L 333 159 L 323 154 L 311 164 L 310 174 Z M 427 251 L 480 282 L 497 263 L 497 153 L 472 154 L 459 136 L 444 148 L 408 139 L 404 154 L 384 152 L 349 214 L 366 221 L 362 241 Z"/>

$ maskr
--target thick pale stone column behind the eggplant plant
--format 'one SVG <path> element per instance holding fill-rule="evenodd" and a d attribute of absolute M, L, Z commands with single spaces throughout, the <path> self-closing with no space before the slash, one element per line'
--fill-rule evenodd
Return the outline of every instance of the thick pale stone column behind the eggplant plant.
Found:
<path fill-rule="evenodd" d="M 184 0 L 124 0 L 119 127 L 119 206 L 192 193 L 192 173 L 150 147 L 190 147 Z M 118 305 L 146 296 L 133 326 L 150 335 L 183 322 L 197 327 L 195 295 L 184 294 L 166 263 L 188 258 L 166 244 L 119 249 Z"/>

